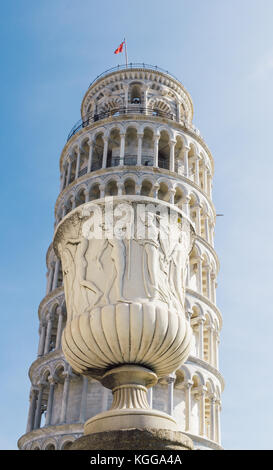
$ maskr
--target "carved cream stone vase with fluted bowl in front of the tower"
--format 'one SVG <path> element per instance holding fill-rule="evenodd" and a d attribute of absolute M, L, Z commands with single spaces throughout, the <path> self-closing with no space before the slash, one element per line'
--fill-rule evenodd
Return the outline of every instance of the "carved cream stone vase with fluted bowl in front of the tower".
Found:
<path fill-rule="evenodd" d="M 120 429 L 177 431 L 149 407 L 147 388 L 186 360 L 185 269 L 194 230 L 173 205 L 142 196 L 89 202 L 56 228 L 67 305 L 62 348 L 74 371 L 112 390 L 110 410 L 85 434 Z"/>

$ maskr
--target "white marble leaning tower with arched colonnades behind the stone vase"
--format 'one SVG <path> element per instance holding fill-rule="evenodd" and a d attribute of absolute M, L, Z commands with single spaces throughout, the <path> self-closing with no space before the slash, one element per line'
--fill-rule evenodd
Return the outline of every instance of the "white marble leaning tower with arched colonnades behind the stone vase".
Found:
<path fill-rule="evenodd" d="M 189 93 L 174 76 L 145 64 L 118 66 L 98 76 L 81 105 L 60 156 L 55 226 L 77 206 L 107 196 L 142 195 L 177 205 L 193 222 L 196 238 L 186 280 L 192 343 L 183 366 L 149 392 L 154 409 L 173 415 L 197 449 L 221 449 L 224 382 L 218 347 L 222 318 L 216 306 L 218 258 L 213 247 L 212 155 L 192 124 Z M 66 323 L 63 274 L 52 244 L 39 315 L 37 358 L 26 433 L 20 449 L 67 449 L 84 422 L 109 408 L 111 392 L 77 374 L 61 348 Z"/>

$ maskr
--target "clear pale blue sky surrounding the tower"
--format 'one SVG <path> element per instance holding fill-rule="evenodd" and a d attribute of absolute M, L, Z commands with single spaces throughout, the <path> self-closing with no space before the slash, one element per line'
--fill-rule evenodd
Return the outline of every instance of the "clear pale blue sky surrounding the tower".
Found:
<path fill-rule="evenodd" d="M 1 449 L 26 427 L 60 152 L 124 36 L 129 62 L 180 78 L 215 158 L 223 445 L 273 449 L 272 21 L 271 0 L 1 5 Z"/>

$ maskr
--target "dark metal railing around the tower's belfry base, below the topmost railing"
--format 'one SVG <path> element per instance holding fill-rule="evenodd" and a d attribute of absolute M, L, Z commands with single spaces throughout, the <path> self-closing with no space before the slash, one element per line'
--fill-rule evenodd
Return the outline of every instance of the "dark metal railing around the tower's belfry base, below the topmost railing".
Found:
<path fill-rule="evenodd" d="M 175 120 L 175 116 L 172 113 L 167 113 L 162 111 L 161 109 L 154 109 L 152 107 L 147 106 L 146 108 L 142 106 L 134 106 L 133 108 L 116 108 L 112 109 L 111 111 L 106 111 L 104 113 L 99 114 L 86 114 L 83 119 L 80 119 L 71 129 L 68 134 L 67 141 L 73 137 L 79 130 L 83 129 L 84 127 L 89 126 L 93 122 L 100 121 L 101 119 L 106 119 L 108 117 L 116 117 L 116 116 L 123 116 L 125 114 L 143 114 L 145 116 L 159 116 L 166 119 L 171 119 L 172 121 Z"/>

